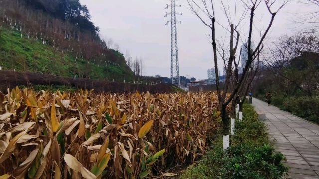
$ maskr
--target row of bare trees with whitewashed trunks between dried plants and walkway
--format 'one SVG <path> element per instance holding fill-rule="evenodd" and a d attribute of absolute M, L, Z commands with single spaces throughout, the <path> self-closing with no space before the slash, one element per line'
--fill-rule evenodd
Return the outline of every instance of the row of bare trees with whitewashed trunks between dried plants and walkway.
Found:
<path fill-rule="evenodd" d="M 212 45 L 213 62 L 216 76 L 216 90 L 219 100 L 219 109 L 223 123 L 223 135 L 229 134 L 230 117 L 235 118 L 235 105 L 245 100 L 256 70 L 252 64 L 259 62 L 259 56 L 263 49 L 263 42 L 273 24 L 279 10 L 281 10 L 287 0 L 240 0 L 240 1 L 213 1 L 213 0 L 187 0 L 191 11 L 199 20 L 209 28 L 211 32 L 210 42 Z M 216 6 L 221 6 L 222 11 L 217 12 Z M 266 29 L 256 29 L 256 14 L 259 14 L 262 8 L 268 10 L 269 21 L 263 21 Z M 240 12 L 240 14 L 238 14 Z M 267 15 L 267 14 L 266 14 Z M 264 16 L 266 16 L 264 15 Z M 227 19 L 223 24 L 220 19 Z M 264 17 L 265 19 L 265 17 Z M 218 30 L 216 30 L 218 28 Z M 217 39 L 217 33 L 222 38 Z M 226 34 L 226 35 L 225 35 Z M 247 34 L 248 39 L 242 40 L 240 35 Z M 259 39 L 254 39 L 256 46 L 253 48 L 253 35 Z M 238 44 L 247 42 L 248 59 L 243 69 L 243 73 L 238 74 Z M 226 68 L 225 82 L 221 86 L 219 82 L 218 63 L 221 62 Z M 232 111 L 227 111 L 227 106 L 232 103 Z M 227 146 L 227 145 L 226 145 Z"/>

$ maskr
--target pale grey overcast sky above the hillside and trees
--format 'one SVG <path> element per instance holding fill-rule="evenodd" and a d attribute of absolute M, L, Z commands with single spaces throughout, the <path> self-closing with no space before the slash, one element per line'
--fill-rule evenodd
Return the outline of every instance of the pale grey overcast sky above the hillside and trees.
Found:
<path fill-rule="evenodd" d="M 91 20 L 99 26 L 102 38 L 112 38 L 119 44 L 123 54 L 129 50 L 134 59 L 136 56 L 143 59 L 143 75 L 160 74 L 170 77 L 170 26 L 165 25 L 169 19 L 164 17 L 165 12 L 169 12 L 164 8 L 170 0 L 80 2 L 88 7 L 92 15 Z M 207 69 L 213 67 L 212 47 L 208 41 L 209 29 L 188 9 L 186 0 L 180 0 L 178 4 L 181 4 L 181 8 L 177 8 L 177 11 L 183 13 L 182 16 L 177 16 L 178 20 L 182 21 L 177 25 L 180 75 L 207 79 Z M 217 11 L 221 10 L 221 6 L 215 8 Z M 298 30 L 294 28 L 297 26 L 294 22 L 296 13 L 307 13 L 315 8 L 310 4 L 287 4 L 276 16 L 268 40 Z M 268 11 L 260 8 L 256 15 L 256 21 L 263 19 L 262 23 L 258 22 L 256 26 L 264 29 L 269 19 Z M 218 11 L 216 16 L 221 17 L 220 23 L 227 22 L 222 18 L 224 14 L 221 11 Z M 243 24 L 245 25 L 247 26 Z M 219 29 L 220 33 L 217 32 L 216 36 L 221 38 L 224 36 L 224 30 Z M 245 32 L 241 34 L 242 39 L 245 36 Z"/>

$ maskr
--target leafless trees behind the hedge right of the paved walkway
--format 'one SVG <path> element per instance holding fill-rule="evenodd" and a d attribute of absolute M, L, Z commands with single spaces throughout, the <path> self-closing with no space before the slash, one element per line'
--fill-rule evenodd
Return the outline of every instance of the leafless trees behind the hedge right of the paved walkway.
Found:
<path fill-rule="evenodd" d="M 263 58 L 266 68 L 258 72 L 254 82 L 255 93 L 275 91 L 287 96 L 318 94 L 318 32 L 307 30 L 291 36 L 283 35 L 267 47 Z"/>

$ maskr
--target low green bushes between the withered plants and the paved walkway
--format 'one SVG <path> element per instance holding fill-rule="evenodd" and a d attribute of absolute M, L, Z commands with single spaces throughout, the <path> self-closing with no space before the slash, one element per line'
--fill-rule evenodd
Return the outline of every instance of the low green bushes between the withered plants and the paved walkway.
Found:
<path fill-rule="evenodd" d="M 267 128 L 258 120 L 254 108 L 244 104 L 244 120 L 237 121 L 231 147 L 223 151 L 220 137 L 198 164 L 182 179 L 281 179 L 288 172 L 284 156 L 270 144 Z"/>

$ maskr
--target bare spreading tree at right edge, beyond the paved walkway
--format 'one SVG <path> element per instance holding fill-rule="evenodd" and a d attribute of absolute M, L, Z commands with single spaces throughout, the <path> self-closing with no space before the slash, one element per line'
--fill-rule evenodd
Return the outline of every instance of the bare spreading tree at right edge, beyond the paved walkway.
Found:
<path fill-rule="evenodd" d="M 292 36 L 284 35 L 273 41 L 268 46 L 264 58 L 273 75 L 283 81 L 288 81 L 287 85 L 291 84 L 286 88 L 298 88 L 312 95 L 314 89 L 318 89 L 319 84 L 318 68 L 315 65 L 318 53 L 319 35 L 314 31 L 312 33 L 307 31 Z M 296 66 L 299 69 L 294 69 Z"/>

